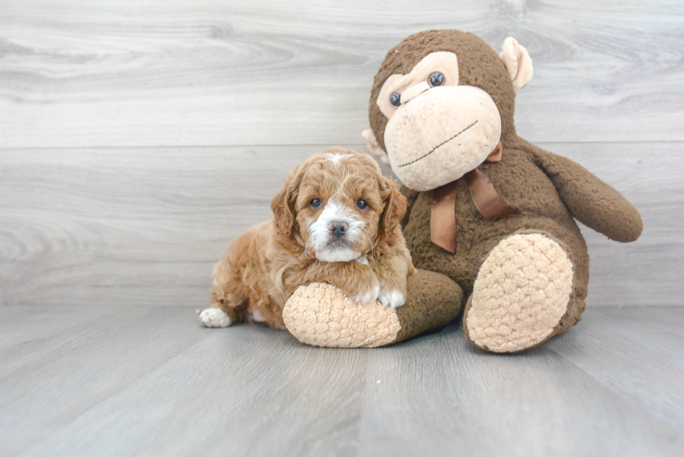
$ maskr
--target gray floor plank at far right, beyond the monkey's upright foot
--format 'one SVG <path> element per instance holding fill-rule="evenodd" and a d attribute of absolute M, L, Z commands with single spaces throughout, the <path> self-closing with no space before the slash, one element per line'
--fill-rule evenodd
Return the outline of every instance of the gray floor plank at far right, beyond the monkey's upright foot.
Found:
<path fill-rule="evenodd" d="M 579 340 L 561 336 L 551 350 L 630 403 L 681 427 L 684 314 L 676 307 L 607 308 L 597 321 L 589 322 L 593 331 L 578 332 Z"/>

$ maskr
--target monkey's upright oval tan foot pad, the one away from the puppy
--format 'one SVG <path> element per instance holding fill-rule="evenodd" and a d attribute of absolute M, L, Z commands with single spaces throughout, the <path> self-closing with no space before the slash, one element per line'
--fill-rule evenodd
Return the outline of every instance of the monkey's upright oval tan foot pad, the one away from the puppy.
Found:
<path fill-rule="evenodd" d="M 515 234 L 491 250 L 463 314 L 471 343 L 489 352 L 519 352 L 543 343 L 565 315 L 572 262 L 543 234 Z"/>

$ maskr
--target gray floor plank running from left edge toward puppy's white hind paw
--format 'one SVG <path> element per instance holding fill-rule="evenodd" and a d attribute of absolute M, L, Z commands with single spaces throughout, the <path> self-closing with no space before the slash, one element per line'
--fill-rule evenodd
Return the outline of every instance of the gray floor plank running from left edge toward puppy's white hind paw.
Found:
<path fill-rule="evenodd" d="M 54 405 L 55 396 L 61 396 L 64 403 L 50 420 L 77 417 L 103 396 L 112 395 L 144 375 L 145 370 L 206 336 L 188 327 L 188 322 L 193 322 L 191 310 L 181 315 L 164 312 L 163 308 L 128 306 L 92 312 L 80 306 L 55 315 L 54 321 L 57 325 L 74 322 L 80 313 L 97 318 L 54 334 L 40 334 L 40 329 L 34 329 L 34 338 L 0 352 L 0 407 L 7 414 L 3 419 L 47 411 Z M 174 323 L 181 326 L 174 329 Z M 30 322 L 23 325 L 30 326 Z M 58 384 L 54 380 L 59 380 Z M 2 428 L 12 427 L 4 421 L 0 424 Z"/>

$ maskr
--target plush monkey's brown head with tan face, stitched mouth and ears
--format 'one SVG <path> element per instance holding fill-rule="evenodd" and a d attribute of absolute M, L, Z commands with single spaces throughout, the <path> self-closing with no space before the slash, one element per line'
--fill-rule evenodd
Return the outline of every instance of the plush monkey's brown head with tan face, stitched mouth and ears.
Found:
<path fill-rule="evenodd" d="M 376 74 L 364 139 L 409 188 L 443 186 L 484 162 L 513 128 L 515 92 L 532 74 L 514 38 L 497 55 L 472 33 L 416 33 Z"/>

